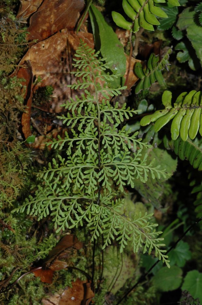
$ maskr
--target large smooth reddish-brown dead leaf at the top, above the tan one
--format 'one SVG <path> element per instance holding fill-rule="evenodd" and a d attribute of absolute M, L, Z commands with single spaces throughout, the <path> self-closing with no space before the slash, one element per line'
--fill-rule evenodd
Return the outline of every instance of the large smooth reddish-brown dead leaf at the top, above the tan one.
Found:
<path fill-rule="evenodd" d="M 84 0 L 44 0 L 30 17 L 28 41 L 44 40 L 62 29 L 73 30 Z"/>

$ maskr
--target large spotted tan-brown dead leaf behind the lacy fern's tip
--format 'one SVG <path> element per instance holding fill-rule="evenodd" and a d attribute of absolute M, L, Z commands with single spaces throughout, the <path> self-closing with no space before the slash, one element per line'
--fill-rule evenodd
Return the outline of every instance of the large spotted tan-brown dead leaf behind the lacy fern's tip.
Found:
<path fill-rule="evenodd" d="M 37 84 L 34 90 L 45 86 L 54 88 L 50 102 L 35 107 L 50 113 L 59 113 L 63 110 L 60 105 L 70 97 L 75 97 L 75 93 L 67 88 L 67 85 L 75 81 L 75 78 L 70 75 L 72 68 L 69 57 L 71 57 L 72 50 L 75 51 L 78 48 L 80 38 L 89 47 L 94 47 L 92 34 L 79 32 L 78 35 L 75 35 L 73 32 L 63 29 L 45 41 L 33 45 L 21 59 L 20 65 L 29 60 L 33 75 L 42 78 L 42 82 Z"/>

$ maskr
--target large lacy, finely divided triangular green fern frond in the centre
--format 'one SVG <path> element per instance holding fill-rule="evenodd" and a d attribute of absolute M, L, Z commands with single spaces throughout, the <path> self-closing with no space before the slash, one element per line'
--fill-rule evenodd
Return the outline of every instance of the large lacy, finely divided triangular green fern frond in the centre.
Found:
<path fill-rule="evenodd" d="M 123 200 L 117 198 L 126 184 L 134 187 L 134 178 L 144 183 L 148 172 L 159 178 L 167 173 L 152 167 L 153 162 L 147 164 L 147 155 L 140 158 L 143 146 L 150 145 L 137 139 L 137 133 L 131 135 L 130 130 L 120 128 L 124 118 L 138 111 L 130 110 L 126 104 L 121 108 L 118 102 L 115 106 L 110 104 L 110 98 L 126 87 L 107 88 L 106 82 L 117 75 L 105 73 L 108 63 L 98 58 L 99 52 L 93 52 L 81 41 L 75 55 L 77 71 L 72 72 L 81 81 L 70 87 L 85 89 L 85 94 L 63 105 L 69 112 L 59 118 L 71 126 L 71 132 L 52 143 L 52 148 L 65 147 L 66 157 L 58 155 L 59 163 L 53 159 L 42 173 L 45 184 L 39 186 L 34 198 L 30 196 L 16 210 L 27 209 L 27 213 L 38 215 L 39 220 L 51 213 L 57 232 L 83 225 L 85 221 L 92 233 L 91 240 L 103 235 L 103 248 L 116 238 L 122 252 L 130 241 L 134 252 L 143 245 L 144 253 L 155 249 L 156 256 L 169 266 L 165 250 L 160 249 L 164 246 L 163 239 L 158 237 L 161 232 L 155 231 L 157 224 L 149 223 L 152 214 L 140 214 L 131 220 L 124 212 Z M 89 86 L 94 88 L 93 94 L 87 90 Z"/>

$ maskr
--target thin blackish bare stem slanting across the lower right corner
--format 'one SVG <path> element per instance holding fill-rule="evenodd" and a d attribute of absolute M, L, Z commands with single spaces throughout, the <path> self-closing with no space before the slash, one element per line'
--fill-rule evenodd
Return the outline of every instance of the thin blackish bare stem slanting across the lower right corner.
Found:
<path fill-rule="evenodd" d="M 193 224 L 191 224 L 190 225 L 190 227 L 183 233 L 183 235 L 181 235 L 180 237 L 179 237 L 179 239 L 174 243 L 174 245 L 173 246 L 171 246 L 170 247 L 170 249 L 165 253 L 165 255 L 167 255 L 172 249 L 174 249 L 175 247 L 176 247 L 176 245 L 178 244 L 178 242 L 181 240 L 181 239 L 183 239 L 183 237 L 197 224 L 197 223 L 199 223 L 200 221 L 202 220 L 202 217 L 199 219 L 199 220 L 197 220 L 196 222 L 194 222 Z M 147 271 L 147 272 L 145 272 L 145 274 L 143 274 L 140 278 L 139 278 L 139 280 L 138 280 L 138 282 L 136 283 L 136 284 L 134 284 L 125 294 L 124 294 L 124 296 L 115 304 L 115 305 L 119 305 L 128 295 L 129 295 L 129 293 L 131 292 L 131 291 L 133 291 L 133 289 L 138 285 L 138 284 L 140 284 L 145 278 L 146 278 L 146 276 L 150 273 L 150 271 L 158 264 L 160 262 L 160 260 L 157 260 L 156 262 L 155 262 L 155 264 L 153 264 L 152 265 L 152 267 Z"/>

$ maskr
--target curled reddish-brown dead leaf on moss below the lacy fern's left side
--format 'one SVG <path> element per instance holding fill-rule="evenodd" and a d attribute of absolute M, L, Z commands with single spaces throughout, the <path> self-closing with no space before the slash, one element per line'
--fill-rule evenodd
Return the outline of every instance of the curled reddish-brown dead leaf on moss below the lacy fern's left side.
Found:
<path fill-rule="evenodd" d="M 83 246 L 82 242 L 79 242 L 77 237 L 73 234 L 65 235 L 58 243 L 57 245 L 49 251 L 48 256 L 44 259 L 44 262 L 41 264 L 41 267 L 37 270 L 34 270 L 35 267 L 33 267 L 33 271 L 31 269 L 31 272 L 35 276 L 39 276 L 41 282 L 45 282 L 48 284 L 52 283 L 53 279 L 53 273 L 54 271 L 64 269 L 68 267 L 68 264 L 60 261 L 57 259 L 57 257 L 60 256 L 67 248 L 73 247 L 75 249 L 81 249 Z"/>

